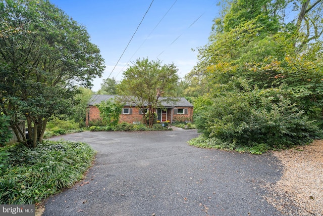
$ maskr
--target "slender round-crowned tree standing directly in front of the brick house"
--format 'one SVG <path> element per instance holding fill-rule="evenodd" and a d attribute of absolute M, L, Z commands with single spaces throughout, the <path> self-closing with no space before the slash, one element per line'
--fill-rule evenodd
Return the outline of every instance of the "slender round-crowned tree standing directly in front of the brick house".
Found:
<path fill-rule="evenodd" d="M 179 79 L 177 71 L 174 64 L 162 65 L 160 60 L 149 61 L 144 58 L 137 59 L 123 73 L 124 78 L 119 85 L 120 93 L 127 102 L 133 102 L 139 108 L 148 107 L 147 124 L 150 127 L 156 108 L 162 107 L 162 101 L 172 100 L 160 97 L 173 96 Z"/>

